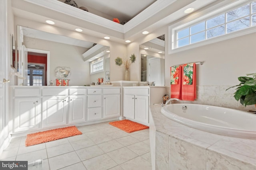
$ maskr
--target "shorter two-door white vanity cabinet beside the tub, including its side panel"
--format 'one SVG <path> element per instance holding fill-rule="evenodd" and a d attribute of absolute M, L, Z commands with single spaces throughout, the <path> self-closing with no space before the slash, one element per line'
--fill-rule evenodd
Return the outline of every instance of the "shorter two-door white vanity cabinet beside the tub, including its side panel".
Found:
<path fill-rule="evenodd" d="M 124 117 L 149 125 L 150 104 L 160 104 L 166 93 L 164 86 L 132 86 L 124 88 Z"/>

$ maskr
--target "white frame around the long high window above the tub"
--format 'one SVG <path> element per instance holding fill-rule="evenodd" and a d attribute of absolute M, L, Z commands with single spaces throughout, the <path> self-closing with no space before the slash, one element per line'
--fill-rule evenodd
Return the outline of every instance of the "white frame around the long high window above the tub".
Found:
<path fill-rule="evenodd" d="M 198 41 L 196 43 L 190 43 L 190 44 L 182 46 L 182 47 L 177 47 L 177 43 L 178 43 L 177 31 L 181 31 L 182 29 L 192 27 L 193 25 L 210 20 L 216 16 L 225 14 L 226 12 L 229 12 L 231 10 L 239 8 L 240 6 L 250 4 L 252 2 L 255 2 L 255 0 L 247 0 L 247 1 L 239 1 L 238 0 L 238 1 L 235 1 L 235 2 L 232 2 L 229 4 L 224 4 L 224 2 L 221 2 L 221 3 L 219 3 L 215 6 L 212 6 L 206 10 L 198 11 L 195 14 L 191 14 L 190 16 L 188 16 L 188 18 L 185 18 L 184 20 L 181 20 L 177 23 L 174 23 L 173 25 L 170 25 L 168 27 L 168 32 L 169 32 L 168 40 L 169 40 L 169 44 L 170 44 L 169 48 L 168 48 L 169 49 L 168 53 L 169 54 L 177 53 L 177 52 L 184 51 L 187 49 L 193 49 L 193 48 L 200 47 L 203 45 L 216 43 L 216 42 L 223 41 L 226 39 L 230 39 L 230 38 L 234 38 L 234 37 L 238 37 L 238 36 L 256 32 L 256 25 L 254 25 L 254 26 L 250 26 L 250 27 L 247 27 L 244 29 L 240 29 L 238 31 L 233 31 L 231 33 L 226 33 L 226 31 L 225 31 L 225 34 L 223 34 L 223 35 L 211 37 L 209 39 L 204 39 L 204 40 Z M 226 16 L 225 16 L 225 18 L 226 18 Z M 226 23 L 227 22 L 225 21 L 224 24 L 226 24 Z"/>

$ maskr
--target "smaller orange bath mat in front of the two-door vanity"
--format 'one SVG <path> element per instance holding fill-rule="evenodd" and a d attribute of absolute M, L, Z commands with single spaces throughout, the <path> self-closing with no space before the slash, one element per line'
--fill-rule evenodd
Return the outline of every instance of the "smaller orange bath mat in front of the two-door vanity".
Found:
<path fill-rule="evenodd" d="M 112 121 L 109 122 L 110 125 L 117 127 L 123 131 L 126 131 L 128 133 L 134 132 L 134 131 L 140 131 L 143 129 L 148 129 L 149 127 L 146 125 L 142 125 L 140 123 L 136 123 L 130 120 L 120 120 L 120 121 Z"/>

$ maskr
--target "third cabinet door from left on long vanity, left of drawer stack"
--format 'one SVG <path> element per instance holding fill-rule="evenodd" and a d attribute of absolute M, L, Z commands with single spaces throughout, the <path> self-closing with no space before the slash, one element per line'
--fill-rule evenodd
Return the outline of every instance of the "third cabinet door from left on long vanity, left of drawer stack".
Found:
<path fill-rule="evenodd" d="M 86 97 L 84 95 L 69 97 L 69 123 L 78 123 L 85 121 L 85 100 Z"/>

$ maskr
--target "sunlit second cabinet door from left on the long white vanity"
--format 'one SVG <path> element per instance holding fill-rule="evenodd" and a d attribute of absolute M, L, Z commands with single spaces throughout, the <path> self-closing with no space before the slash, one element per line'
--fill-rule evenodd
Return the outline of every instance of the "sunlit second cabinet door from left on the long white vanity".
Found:
<path fill-rule="evenodd" d="M 65 96 L 49 96 L 42 99 L 43 127 L 66 125 L 67 101 Z"/>

